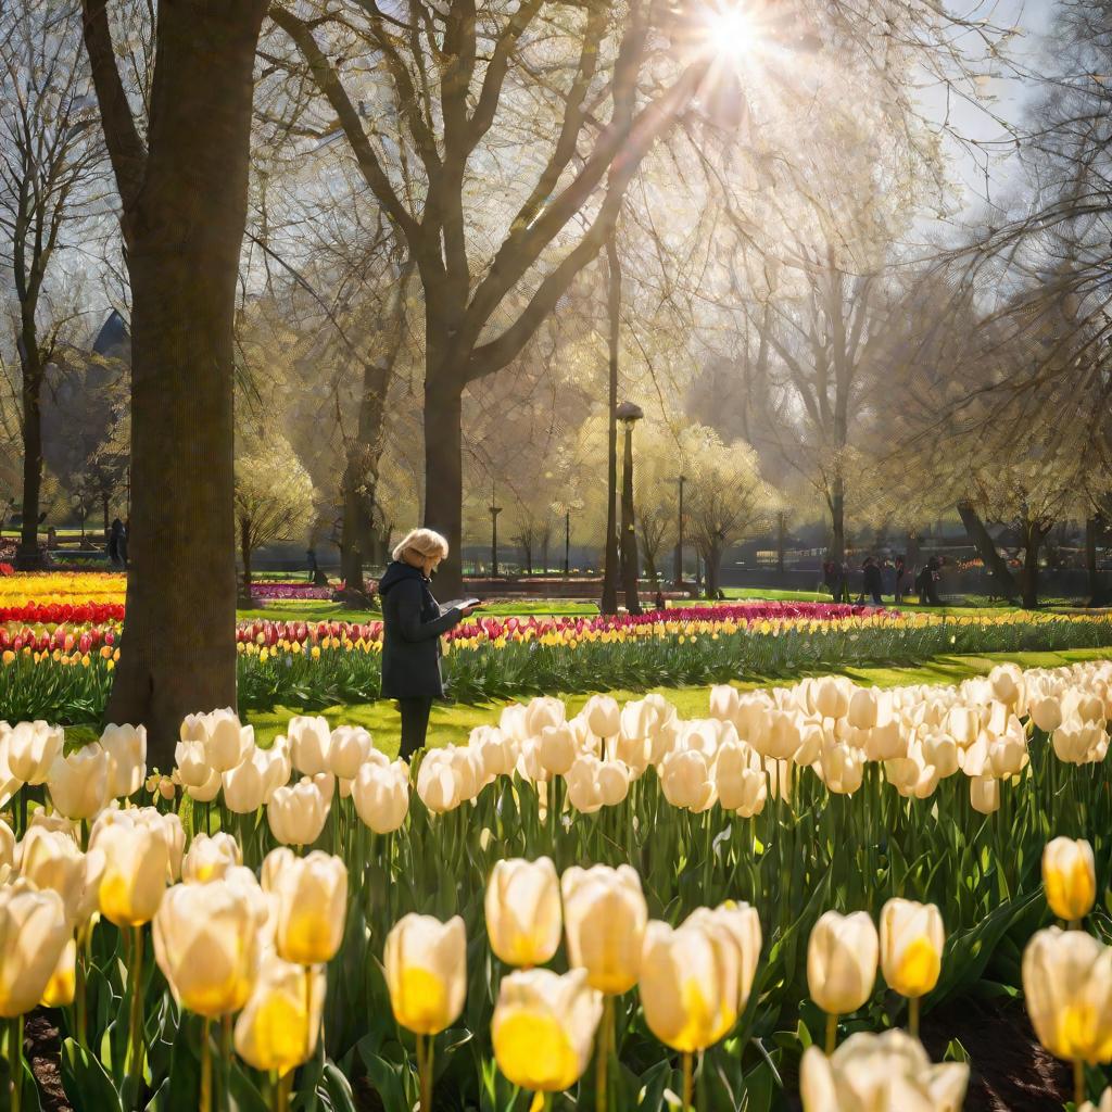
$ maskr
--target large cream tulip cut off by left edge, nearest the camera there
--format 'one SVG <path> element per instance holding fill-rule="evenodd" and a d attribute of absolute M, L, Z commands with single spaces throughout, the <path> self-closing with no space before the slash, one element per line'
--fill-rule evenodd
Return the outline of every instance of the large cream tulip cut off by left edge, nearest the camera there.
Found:
<path fill-rule="evenodd" d="M 69 941 L 57 892 L 23 880 L 0 886 L 0 1017 L 14 1019 L 39 1003 Z"/>

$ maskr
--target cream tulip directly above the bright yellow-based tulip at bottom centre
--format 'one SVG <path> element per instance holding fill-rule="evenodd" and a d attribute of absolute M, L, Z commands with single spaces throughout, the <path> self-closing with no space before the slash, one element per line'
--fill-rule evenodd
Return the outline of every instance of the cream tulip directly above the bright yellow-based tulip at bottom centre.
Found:
<path fill-rule="evenodd" d="M 507 965 L 544 965 L 560 936 L 559 880 L 550 857 L 495 862 L 487 883 L 490 949 Z"/>

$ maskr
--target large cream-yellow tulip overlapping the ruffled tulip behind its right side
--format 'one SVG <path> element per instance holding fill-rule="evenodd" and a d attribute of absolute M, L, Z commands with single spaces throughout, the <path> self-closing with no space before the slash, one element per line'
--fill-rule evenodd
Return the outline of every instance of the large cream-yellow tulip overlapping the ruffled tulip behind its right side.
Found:
<path fill-rule="evenodd" d="M 641 1005 L 649 1031 L 685 1054 L 714 1045 L 737 1022 L 741 956 L 714 922 L 673 929 L 652 922 L 641 959 Z"/>

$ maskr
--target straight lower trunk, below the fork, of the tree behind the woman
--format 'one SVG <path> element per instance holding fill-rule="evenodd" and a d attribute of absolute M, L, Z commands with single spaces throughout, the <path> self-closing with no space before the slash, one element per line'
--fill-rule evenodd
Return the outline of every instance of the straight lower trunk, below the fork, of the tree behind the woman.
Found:
<path fill-rule="evenodd" d="M 436 573 L 437 594 L 464 594 L 463 389 L 455 375 L 425 385 L 425 525 L 448 542 L 448 558 Z"/>

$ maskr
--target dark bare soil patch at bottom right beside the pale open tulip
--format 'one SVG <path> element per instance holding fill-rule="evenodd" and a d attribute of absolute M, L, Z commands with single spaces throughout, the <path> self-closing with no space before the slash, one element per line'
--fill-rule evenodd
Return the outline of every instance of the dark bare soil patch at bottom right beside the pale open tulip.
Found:
<path fill-rule="evenodd" d="M 969 1052 L 965 1112 L 1061 1112 L 1072 1099 L 1070 1068 L 1039 1045 L 1017 1001 L 952 1001 L 923 1016 L 921 1034 L 932 1062 L 953 1039 Z"/>

